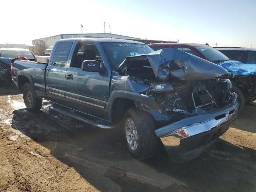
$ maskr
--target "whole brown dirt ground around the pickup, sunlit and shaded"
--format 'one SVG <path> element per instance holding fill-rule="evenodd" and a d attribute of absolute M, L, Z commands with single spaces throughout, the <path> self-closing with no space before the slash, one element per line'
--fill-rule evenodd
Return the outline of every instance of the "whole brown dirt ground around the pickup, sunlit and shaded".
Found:
<path fill-rule="evenodd" d="M 256 103 L 255 103 L 256 104 Z M 14 86 L 0 88 L 1 192 L 256 192 L 256 105 L 195 160 L 174 164 L 165 150 L 138 161 L 120 130 L 102 130 L 43 109 L 25 109 Z"/>

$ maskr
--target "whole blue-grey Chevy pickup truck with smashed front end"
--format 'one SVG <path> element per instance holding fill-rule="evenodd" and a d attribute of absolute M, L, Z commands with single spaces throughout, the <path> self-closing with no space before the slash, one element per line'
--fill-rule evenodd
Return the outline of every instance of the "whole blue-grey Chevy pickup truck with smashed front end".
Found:
<path fill-rule="evenodd" d="M 12 63 L 28 110 L 46 99 L 53 110 L 88 124 L 121 128 L 140 160 L 156 154 L 160 138 L 174 162 L 196 158 L 236 119 L 237 94 L 226 73 L 176 49 L 154 52 L 109 38 L 59 40 L 48 64 Z"/>

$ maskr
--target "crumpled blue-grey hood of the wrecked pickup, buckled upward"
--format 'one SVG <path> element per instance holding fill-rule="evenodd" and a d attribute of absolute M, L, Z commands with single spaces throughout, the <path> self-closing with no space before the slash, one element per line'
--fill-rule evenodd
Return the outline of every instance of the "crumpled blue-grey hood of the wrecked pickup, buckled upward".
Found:
<path fill-rule="evenodd" d="M 212 62 L 174 49 L 160 49 L 149 54 L 127 57 L 120 64 L 118 71 L 128 70 L 134 62 L 148 60 L 156 80 L 205 80 L 227 74 L 227 71 Z"/>

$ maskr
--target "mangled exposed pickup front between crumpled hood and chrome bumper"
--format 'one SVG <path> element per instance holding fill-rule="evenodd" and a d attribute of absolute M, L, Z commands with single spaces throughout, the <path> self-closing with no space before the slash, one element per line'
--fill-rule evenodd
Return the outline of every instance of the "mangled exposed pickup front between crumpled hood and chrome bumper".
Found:
<path fill-rule="evenodd" d="M 210 108 L 235 102 L 237 97 L 235 93 L 230 92 L 230 80 L 223 78 L 172 83 L 144 80 L 144 83 L 150 87 L 143 94 L 154 97 L 161 107 L 161 112 L 167 114 L 198 114 Z M 147 108 L 143 104 L 136 105 L 144 110 Z"/>

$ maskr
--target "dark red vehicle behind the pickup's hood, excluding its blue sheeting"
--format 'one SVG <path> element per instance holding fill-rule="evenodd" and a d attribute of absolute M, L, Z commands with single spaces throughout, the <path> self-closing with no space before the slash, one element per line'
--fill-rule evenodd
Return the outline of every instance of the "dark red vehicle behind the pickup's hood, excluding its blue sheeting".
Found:
<path fill-rule="evenodd" d="M 149 44 L 148 46 L 150 46 L 154 51 L 164 48 L 176 48 L 218 65 L 230 60 L 230 58 L 222 54 L 220 51 L 205 44 L 155 43 Z M 232 61 L 230 60 L 230 62 Z M 256 75 L 229 74 L 228 78 L 232 82 L 232 90 L 238 94 L 237 100 L 240 104 L 240 110 L 243 108 L 244 103 L 252 102 L 256 99 Z"/>

